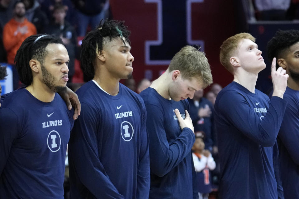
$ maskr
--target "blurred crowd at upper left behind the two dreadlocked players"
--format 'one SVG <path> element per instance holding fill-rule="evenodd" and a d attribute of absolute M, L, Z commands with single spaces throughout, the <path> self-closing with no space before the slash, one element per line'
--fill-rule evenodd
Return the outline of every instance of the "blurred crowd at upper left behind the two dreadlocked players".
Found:
<path fill-rule="evenodd" d="M 72 82 L 74 62 L 80 54 L 77 37 L 111 17 L 108 0 L 0 0 L 0 63 L 13 66 L 17 49 L 30 35 L 59 36 L 69 53 Z M 12 69 L 15 90 L 21 85 Z"/>

